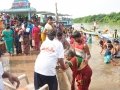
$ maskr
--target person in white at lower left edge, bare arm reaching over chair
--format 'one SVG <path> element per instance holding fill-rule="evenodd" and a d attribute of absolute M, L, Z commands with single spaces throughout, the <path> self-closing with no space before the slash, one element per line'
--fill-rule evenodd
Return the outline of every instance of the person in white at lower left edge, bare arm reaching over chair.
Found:
<path fill-rule="evenodd" d="M 4 85 L 3 85 L 3 78 L 8 78 L 12 84 L 14 84 L 14 82 L 16 82 L 17 83 L 16 88 L 19 87 L 20 82 L 19 82 L 18 78 L 13 76 L 12 74 L 10 74 L 8 72 L 3 71 L 3 66 L 2 66 L 2 62 L 1 62 L 1 55 L 0 55 L 0 90 L 5 90 Z"/>

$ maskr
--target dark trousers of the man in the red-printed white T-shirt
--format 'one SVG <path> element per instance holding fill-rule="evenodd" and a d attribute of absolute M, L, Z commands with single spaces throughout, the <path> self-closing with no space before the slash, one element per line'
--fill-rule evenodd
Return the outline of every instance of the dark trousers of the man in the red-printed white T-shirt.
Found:
<path fill-rule="evenodd" d="M 48 84 L 49 90 L 58 90 L 58 83 L 56 76 L 44 76 L 34 72 L 34 87 L 38 90 L 40 87 Z"/>

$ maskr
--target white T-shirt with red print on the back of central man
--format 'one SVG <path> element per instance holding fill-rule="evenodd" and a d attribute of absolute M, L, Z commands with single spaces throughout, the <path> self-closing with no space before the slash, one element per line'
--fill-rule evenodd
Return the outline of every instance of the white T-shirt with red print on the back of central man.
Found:
<path fill-rule="evenodd" d="M 48 38 L 42 43 L 35 62 L 35 72 L 45 76 L 55 76 L 58 58 L 64 58 L 64 49 L 60 41 Z"/>

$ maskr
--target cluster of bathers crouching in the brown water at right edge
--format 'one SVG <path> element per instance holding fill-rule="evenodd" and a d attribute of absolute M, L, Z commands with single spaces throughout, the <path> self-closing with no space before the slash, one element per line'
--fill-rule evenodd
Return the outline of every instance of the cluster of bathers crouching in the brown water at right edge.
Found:
<path fill-rule="evenodd" d="M 104 53 L 104 63 L 112 63 L 113 65 L 119 65 L 114 59 L 120 58 L 120 42 L 119 40 L 100 40 L 101 52 L 100 54 Z"/>

